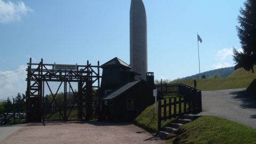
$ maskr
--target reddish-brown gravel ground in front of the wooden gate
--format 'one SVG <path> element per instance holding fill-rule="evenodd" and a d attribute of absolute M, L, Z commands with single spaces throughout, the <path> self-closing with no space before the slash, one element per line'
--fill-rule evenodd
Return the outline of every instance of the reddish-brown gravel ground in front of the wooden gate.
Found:
<path fill-rule="evenodd" d="M 130 123 L 47 122 L 29 124 L 4 143 L 165 143 Z"/>

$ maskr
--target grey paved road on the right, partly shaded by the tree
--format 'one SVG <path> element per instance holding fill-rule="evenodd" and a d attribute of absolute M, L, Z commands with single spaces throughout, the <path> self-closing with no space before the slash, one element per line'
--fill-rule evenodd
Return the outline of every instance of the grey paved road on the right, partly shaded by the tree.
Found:
<path fill-rule="evenodd" d="M 203 115 L 214 115 L 256 129 L 256 98 L 245 89 L 202 91 Z"/>

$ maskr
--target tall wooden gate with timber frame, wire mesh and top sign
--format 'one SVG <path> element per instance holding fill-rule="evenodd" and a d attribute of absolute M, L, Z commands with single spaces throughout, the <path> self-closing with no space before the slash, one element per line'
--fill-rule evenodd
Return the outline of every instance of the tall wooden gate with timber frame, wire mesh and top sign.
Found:
<path fill-rule="evenodd" d="M 28 122 L 97 118 L 100 66 L 27 63 Z M 73 115 L 73 116 L 71 116 Z M 75 115 L 75 116 L 74 116 Z M 72 118 L 71 118 L 72 117 Z"/>

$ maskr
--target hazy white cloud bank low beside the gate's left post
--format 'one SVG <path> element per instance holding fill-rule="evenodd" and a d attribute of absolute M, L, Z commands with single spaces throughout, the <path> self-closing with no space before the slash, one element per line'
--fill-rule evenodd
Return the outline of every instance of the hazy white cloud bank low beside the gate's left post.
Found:
<path fill-rule="evenodd" d="M 18 92 L 25 94 L 26 91 L 26 65 L 19 66 L 14 70 L 0 71 L 0 99 L 15 97 Z"/>

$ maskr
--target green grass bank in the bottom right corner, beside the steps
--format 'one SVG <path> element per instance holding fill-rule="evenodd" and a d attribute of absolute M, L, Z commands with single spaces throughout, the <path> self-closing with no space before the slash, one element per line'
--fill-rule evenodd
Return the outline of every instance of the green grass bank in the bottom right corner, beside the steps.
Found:
<path fill-rule="evenodd" d="M 181 134 L 169 143 L 256 143 L 256 130 L 214 116 L 202 116 L 181 126 Z"/>

